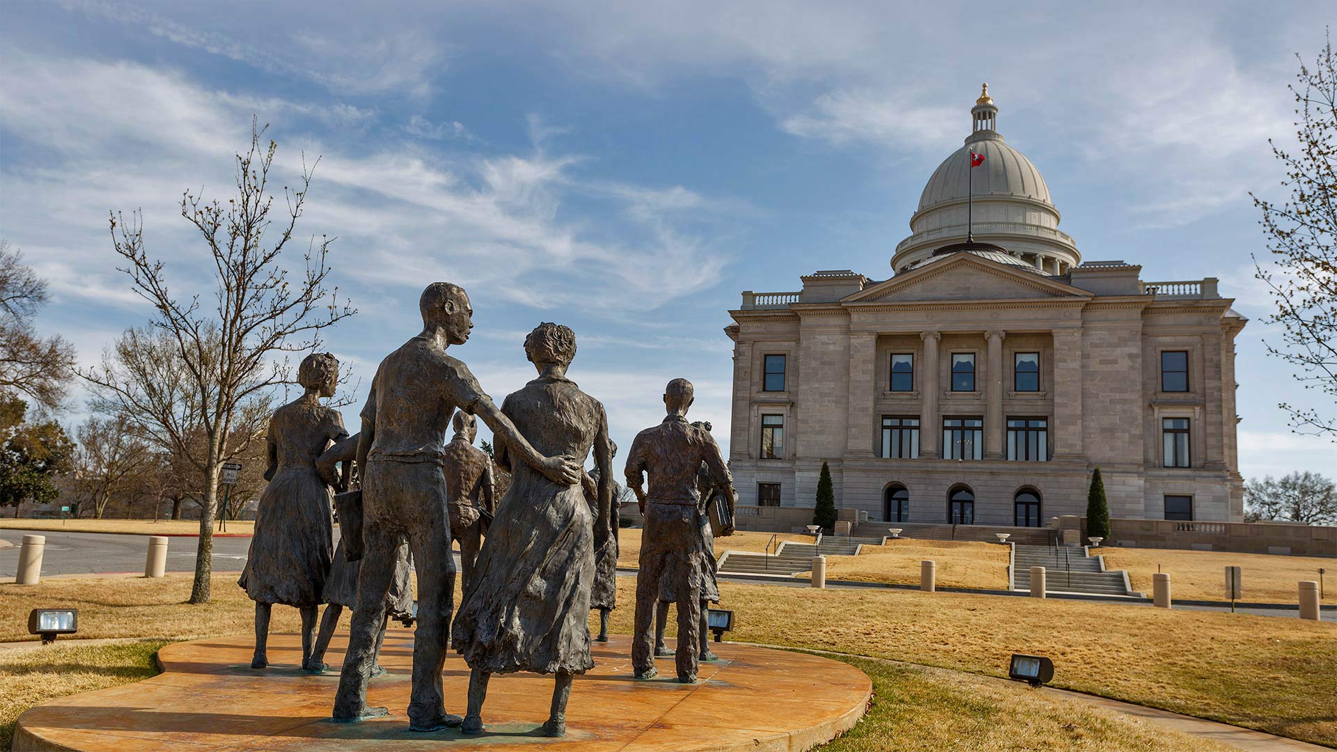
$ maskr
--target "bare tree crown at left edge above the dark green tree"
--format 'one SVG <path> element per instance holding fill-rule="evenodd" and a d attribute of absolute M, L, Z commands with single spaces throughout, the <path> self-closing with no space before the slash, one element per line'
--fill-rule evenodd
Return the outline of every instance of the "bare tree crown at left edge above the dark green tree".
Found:
<path fill-rule="evenodd" d="M 74 379 L 75 348 L 59 335 L 36 335 L 32 318 L 47 297 L 47 281 L 0 241 L 0 389 L 23 392 L 49 409 Z"/>

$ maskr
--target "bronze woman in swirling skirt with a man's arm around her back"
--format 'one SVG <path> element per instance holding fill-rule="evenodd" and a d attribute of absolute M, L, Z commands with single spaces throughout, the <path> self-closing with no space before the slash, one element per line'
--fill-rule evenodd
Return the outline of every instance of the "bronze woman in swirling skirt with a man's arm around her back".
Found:
<path fill-rule="evenodd" d="M 508 396 L 501 412 L 539 454 L 568 455 L 583 464 L 594 448 L 599 511 L 591 514 L 579 483 L 562 486 L 527 464 L 509 463 L 499 442 L 497 464 L 512 467 L 511 487 L 455 616 L 452 645 L 472 669 L 464 733 L 483 732 L 488 678 L 527 670 L 556 674 L 543 733 L 564 736 L 571 677 L 594 668 L 594 541 L 596 529 L 610 534 L 612 452 L 603 404 L 566 377 L 576 355 L 575 333 L 540 324 L 525 337 L 524 351 L 539 377 Z"/>

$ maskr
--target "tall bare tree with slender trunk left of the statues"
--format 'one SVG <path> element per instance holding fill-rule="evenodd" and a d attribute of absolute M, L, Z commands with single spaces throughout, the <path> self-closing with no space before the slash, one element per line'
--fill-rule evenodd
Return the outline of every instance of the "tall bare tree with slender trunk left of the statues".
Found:
<path fill-rule="evenodd" d="M 155 314 L 150 329 L 126 332 L 102 368 L 82 372 L 98 391 L 102 409 L 131 416 L 155 443 L 179 451 L 202 474 L 191 603 L 210 597 L 222 464 L 246 451 L 267 417 L 271 395 L 291 383 L 287 353 L 314 351 L 325 328 L 356 313 L 340 302 L 338 288 L 326 288 L 334 238 L 312 240 L 305 270 L 295 278 L 281 264 L 312 182 L 305 159 L 297 190 L 283 187 L 286 213 L 274 227 L 278 237 L 266 241 L 274 203 L 269 173 L 277 150 L 273 140 L 262 142 L 266 130 L 253 127 L 250 149 L 237 155 L 235 198 L 223 203 L 189 190 L 182 194 L 180 215 L 199 231 L 214 264 L 213 309 L 202 308 L 198 294 L 178 297 L 170 290 L 163 262 L 144 246 L 139 213 L 128 222 L 112 213 L 112 244 L 126 261 L 122 272 Z"/>

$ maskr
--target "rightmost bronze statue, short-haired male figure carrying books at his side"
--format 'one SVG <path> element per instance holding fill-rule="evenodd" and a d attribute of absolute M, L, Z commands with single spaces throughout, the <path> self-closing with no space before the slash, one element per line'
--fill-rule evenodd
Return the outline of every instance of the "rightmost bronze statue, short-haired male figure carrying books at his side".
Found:
<path fill-rule="evenodd" d="M 636 575 L 635 634 L 631 666 L 636 678 L 652 678 L 655 607 L 660 601 L 678 605 L 678 650 L 674 657 L 678 681 L 697 681 L 703 551 L 698 471 L 706 463 L 715 487 L 733 495 L 734 479 L 710 432 L 687 423 L 693 401 L 691 381 L 674 379 L 664 389 L 667 417 L 636 435 L 627 455 L 627 487 L 644 508 L 640 543 L 640 574 Z M 650 476 L 650 490 L 642 488 Z M 722 530 L 729 534 L 731 530 Z"/>

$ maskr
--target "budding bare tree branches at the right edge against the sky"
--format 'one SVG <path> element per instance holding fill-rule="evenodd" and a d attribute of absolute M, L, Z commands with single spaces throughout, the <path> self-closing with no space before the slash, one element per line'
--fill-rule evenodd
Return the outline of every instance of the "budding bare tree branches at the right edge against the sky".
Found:
<path fill-rule="evenodd" d="M 1290 199 L 1277 205 L 1253 197 L 1262 210 L 1263 234 L 1277 270 L 1255 264 L 1255 276 L 1271 290 L 1277 310 L 1266 321 L 1281 324 L 1281 344 L 1267 352 L 1298 367 L 1306 389 L 1337 400 L 1337 58 L 1332 41 L 1310 67 L 1298 55 L 1296 98 L 1297 151 L 1275 143 L 1271 153 L 1286 171 L 1281 185 Z M 1282 403 L 1292 427 L 1337 440 L 1337 416 L 1314 407 Z"/>

